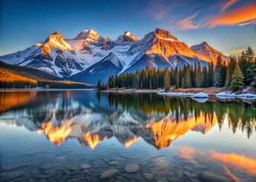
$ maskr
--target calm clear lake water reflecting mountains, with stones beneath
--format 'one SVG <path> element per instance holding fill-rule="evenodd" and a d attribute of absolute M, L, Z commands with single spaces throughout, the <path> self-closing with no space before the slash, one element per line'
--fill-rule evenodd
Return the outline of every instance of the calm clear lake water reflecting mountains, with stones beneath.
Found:
<path fill-rule="evenodd" d="M 200 181 L 202 171 L 255 181 L 255 128 L 255 108 L 239 101 L 0 92 L 0 180 L 100 181 L 116 168 L 110 181 Z"/>

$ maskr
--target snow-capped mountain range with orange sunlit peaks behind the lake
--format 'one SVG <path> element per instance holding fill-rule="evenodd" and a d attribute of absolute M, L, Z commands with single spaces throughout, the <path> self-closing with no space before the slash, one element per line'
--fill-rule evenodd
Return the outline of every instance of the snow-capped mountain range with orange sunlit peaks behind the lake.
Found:
<path fill-rule="evenodd" d="M 228 58 L 206 42 L 189 47 L 168 31 L 156 29 L 142 39 L 126 31 L 117 40 L 85 30 L 74 39 L 64 39 L 59 31 L 30 48 L 0 56 L 0 61 L 32 67 L 54 77 L 95 84 L 106 83 L 110 75 L 156 68 L 183 67 L 200 62 L 216 64 L 218 55 Z"/>

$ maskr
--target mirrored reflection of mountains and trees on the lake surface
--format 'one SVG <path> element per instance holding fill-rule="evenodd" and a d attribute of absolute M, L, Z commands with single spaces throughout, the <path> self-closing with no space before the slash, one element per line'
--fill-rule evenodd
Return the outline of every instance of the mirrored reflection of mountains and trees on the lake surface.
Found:
<path fill-rule="evenodd" d="M 59 146 L 76 138 L 94 149 L 110 137 L 124 146 L 142 138 L 162 149 L 188 131 L 203 134 L 224 121 L 229 129 L 246 132 L 256 128 L 256 114 L 245 103 L 171 98 L 152 94 L 94 93 L 91 91 L 0 93 L 1 116 L 17 115 L 11 124 L 44 134 Z M 8 112 L 11 111 L 11 112 Z M 21 120 L 20 116 L 26 118 Z"/>

